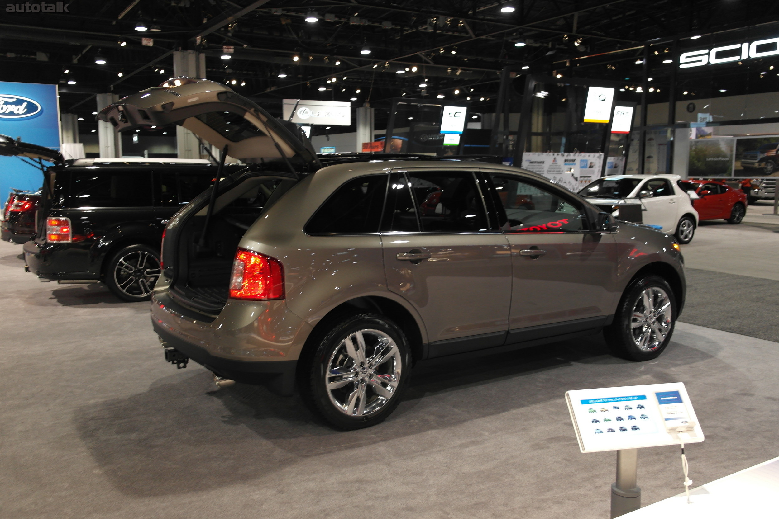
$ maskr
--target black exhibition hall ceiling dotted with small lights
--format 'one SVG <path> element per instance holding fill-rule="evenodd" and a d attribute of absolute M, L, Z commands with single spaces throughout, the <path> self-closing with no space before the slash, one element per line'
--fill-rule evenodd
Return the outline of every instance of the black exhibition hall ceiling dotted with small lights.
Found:
<path fill-rule="evenodd" d="M 209 79 L 235 80 L 239 93 L 266 100 L 356 97 L 380 106 L 402 94 L 443 93 L 488 105 L 504 67 L 622 80 L 640 74 L 644 42 L 669 42 L 670 52 L 675 37 L 779 19 L 779 2 L 746 0 L 76 0 L 44 9 L 65 5 L 68 12 L 31 12 L 29 2 L 19 3 L 16 11 L 30 12 L 6 12 L 0 23 L 3 79 L 59 83 L 63 110 L 91 110 L 85 101 L 93 93 L 156 86 L 173 72 L 169 51 L 180 49 L 206 54 Z M 515 10 L 502 12 L 506 5 Z M 306 22 L 309 11 L 319 21 Z M 136 31 L 139 20 L 159 30 Z M 528 44 L 515 47 L 518 38 Z M 220 58 L 224 46 L 234 47 L 229 60 Z M 363 47 L 371 53 L 361 54 Z"/>

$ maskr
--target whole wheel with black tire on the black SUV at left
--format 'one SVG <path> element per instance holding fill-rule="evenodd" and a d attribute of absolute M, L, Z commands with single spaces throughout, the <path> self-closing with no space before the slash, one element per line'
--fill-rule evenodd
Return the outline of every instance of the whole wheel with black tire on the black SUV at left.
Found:
<path fill-rule="evenodd" d="M 148 301 L 160 273 L 159 251 L 147 245 L 130 245 L 111 256 L 103 281 L 119 299 Z"/>

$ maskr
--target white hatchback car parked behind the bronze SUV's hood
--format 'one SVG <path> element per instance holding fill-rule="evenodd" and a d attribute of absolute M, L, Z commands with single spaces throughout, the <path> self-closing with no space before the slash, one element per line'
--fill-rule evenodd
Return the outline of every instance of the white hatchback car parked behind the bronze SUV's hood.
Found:
<path fill-rule="evenodd" d="M 640 204 L 643 223 L 675 235 L 680 244 L 693 240 L 698 212 L 679 187 L 679 175 L 615 175 L 597 179 L 579 191 L 597 205 Z"/>

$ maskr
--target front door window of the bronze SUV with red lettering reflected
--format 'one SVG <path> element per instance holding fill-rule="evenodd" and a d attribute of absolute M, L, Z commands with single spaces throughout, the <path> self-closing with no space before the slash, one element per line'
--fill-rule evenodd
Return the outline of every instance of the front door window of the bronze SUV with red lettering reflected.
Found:
<path fill-rule="evenodd" d="M 513 176 L 491 174 L 490 177 L 500 201 L 498 212 L 502 230 L 559 233 L 585 229 L 586 213 L 573 199 Z"/>

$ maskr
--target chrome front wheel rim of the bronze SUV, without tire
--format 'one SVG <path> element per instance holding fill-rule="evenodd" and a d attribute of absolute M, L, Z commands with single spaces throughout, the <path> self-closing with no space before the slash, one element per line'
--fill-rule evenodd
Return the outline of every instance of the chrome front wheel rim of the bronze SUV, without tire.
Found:
<path fill-rule="evenodd" d="M 643 352 L 659 348 L 671 331 L 671 299 L 664 289 L 650 286 L 633 305 L 630 319 L 633 342 Z"/>

